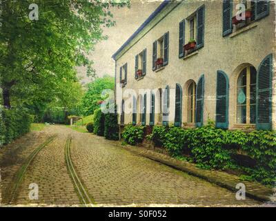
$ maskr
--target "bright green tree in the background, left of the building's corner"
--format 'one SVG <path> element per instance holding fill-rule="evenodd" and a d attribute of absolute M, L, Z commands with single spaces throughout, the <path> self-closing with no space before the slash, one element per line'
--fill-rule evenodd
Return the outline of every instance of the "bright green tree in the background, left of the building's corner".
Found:
<path fill-rule="evenodd" d="M 81 109 L 83 115 L 92 115 L 94 111 L 99 108 L 99 101 L 103 99 L 101 92 L 104 89 L 113 90 L 115 87 L 115 80 L 113 77 L 104 76 L 95 79 L 88 84 L 88 90 L 81 100 Z"/>

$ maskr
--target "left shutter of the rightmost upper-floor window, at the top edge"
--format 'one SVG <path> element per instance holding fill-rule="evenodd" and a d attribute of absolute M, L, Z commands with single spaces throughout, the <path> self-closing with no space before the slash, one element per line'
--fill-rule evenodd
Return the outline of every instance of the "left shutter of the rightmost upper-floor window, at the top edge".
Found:
<path fill-rule="evenodd" d="M 232 33 L 233 0 L 224 0 L 222 3 L 222 36 Z"/>

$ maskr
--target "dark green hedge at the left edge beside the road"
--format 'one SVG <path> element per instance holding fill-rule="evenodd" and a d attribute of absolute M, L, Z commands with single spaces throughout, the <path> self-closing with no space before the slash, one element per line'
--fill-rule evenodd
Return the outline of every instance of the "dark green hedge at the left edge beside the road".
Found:
<path fill-rule="evenodd" d="M 0 146 L 30 131 L 32 115 L 24 108 L 2 108 L 0 113 Z"/>

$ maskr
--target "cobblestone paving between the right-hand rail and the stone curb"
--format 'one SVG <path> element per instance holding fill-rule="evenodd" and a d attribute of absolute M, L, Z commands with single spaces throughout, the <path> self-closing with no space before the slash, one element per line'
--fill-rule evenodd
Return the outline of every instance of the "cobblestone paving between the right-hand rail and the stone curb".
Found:
<path fill-rule="evenodd" d="M 72 161 L 98 204 L 253 205 L 235 193 L 115 147 L 103 137 L 74 134 Z"/>

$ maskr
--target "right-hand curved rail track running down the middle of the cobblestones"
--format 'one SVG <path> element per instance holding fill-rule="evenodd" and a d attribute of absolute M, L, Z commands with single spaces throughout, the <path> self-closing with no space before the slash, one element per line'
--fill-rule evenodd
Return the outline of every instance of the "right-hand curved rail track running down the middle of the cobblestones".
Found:
<path fill-rule="evenodd" d="M 65 157 L 66 157 L 66 166 L 68 169 L 68 173 L 71 177 L 71 180 L 75 186 L 75 190 L 77 191 L 77 195 L 79 196 L 80 202 L 82 204 L 95 204 L 92 197 L 89 195 L 88 191 L 86 190 L 85 184 L 81 181 L 79 176 L 77 175 L 77 172 L 75 170 L 74 165 L 72 164 L 72 160 L 70 157 L 70 146 L 72 142 L 72 137 L 68 136 L 66 140 L 66 146 L 65 146 Z"/>

